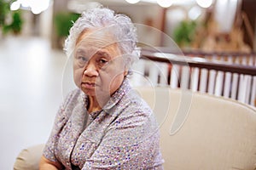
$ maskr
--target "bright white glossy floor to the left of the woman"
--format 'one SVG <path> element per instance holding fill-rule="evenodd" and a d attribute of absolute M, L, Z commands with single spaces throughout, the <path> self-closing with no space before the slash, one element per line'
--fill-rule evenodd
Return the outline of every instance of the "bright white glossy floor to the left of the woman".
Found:
<path fill-rule="evenodd" d="M 20 150 L 48 139 L 62 96 L 73 88 L 67 61 L 38 37 L 0 39 L 0 169 L 13 169 Z"/>

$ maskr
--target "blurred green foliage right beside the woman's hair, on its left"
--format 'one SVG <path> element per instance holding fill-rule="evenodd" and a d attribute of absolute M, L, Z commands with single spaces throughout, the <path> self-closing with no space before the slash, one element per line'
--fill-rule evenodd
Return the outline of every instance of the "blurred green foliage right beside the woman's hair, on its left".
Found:
<path fill-rule="evenodd" d="M 58 37 L 67 37 L 69 29 L 73 26 L 73 22 L 78 20 L 79 14 L 58 13 L 55 15 L 55 26 Z"/>

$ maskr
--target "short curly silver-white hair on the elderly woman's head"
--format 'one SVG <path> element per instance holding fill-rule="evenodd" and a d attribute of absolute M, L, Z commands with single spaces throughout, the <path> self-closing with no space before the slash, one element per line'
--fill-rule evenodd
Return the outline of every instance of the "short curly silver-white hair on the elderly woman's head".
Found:
<path fill-rule="evenodd" d="M 126 57 L 125 65 L 129 68 L 140 57 L 140 48 L 137 48 L 137 29 L 131 19 L 125 14 L 115 14 L 109 8 L 90 8 L 83 12 L 73 23 L 64 45 L 68 57 L 73 54 L 76 42 L 82 31 L 87 29 L 110 28 L 118 47 Z"/>

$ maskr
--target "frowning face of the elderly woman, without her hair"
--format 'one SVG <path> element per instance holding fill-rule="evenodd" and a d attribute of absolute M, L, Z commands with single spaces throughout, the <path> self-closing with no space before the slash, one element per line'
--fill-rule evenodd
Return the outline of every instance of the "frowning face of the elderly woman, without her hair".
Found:
<path fill-rule="evenodd" d="M 74 50 L 75 84 L 92 97 L 112 95 L 124 80 L 125 62 L 108 31 L 84 31 Z"/>

